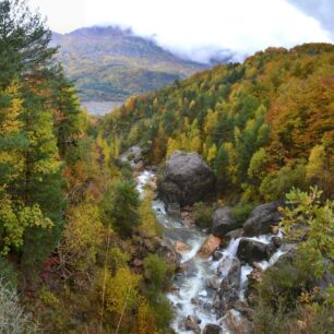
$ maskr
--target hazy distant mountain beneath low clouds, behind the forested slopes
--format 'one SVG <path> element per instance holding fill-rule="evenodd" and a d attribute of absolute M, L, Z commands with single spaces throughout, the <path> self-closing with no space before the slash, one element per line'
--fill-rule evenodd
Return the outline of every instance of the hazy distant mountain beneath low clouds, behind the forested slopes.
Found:
<path fill-rule="evenodd" d="M 207 68 L 119 27 L 53 33 L 52 44 L 60 46 L 58 60 L 76 82 L 82 100 L 124 100 Z"/>

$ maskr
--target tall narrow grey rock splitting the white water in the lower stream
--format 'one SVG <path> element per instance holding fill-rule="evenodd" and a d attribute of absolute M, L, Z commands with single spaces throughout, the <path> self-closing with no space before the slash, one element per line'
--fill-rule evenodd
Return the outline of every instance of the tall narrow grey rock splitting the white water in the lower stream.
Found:
<path fill-rule="evenodd" d="M 231 259 L 227 275 L 223 278 L 214 306 L 218 315 L 225 314 L 239 299 L 241 266 L 238 259 Z"/>

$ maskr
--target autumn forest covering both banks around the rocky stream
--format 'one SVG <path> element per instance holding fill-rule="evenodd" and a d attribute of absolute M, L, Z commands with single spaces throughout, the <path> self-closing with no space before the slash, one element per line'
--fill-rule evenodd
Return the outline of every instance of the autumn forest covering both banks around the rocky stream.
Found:
<path fill-rule="evenodd" d="M 282 226 L 301 222 L 308 238 L 298 265 L 265 272 L 248 332 L 332 333 L 333 286 L 309 283 L 324 263 L 333 274 L 334 46 L 269 48 L 99 119 L 51 37 L 25 0 L 0 2 L 0 333 L 175 333 L 177 267 L 154 194 L 121 159 L 133 145 L 158 168 L 177 150 L 204 158 L 216 192 L 194 205 L 201 224 L 213 202 L 244 220 L 286 198 Z"/>

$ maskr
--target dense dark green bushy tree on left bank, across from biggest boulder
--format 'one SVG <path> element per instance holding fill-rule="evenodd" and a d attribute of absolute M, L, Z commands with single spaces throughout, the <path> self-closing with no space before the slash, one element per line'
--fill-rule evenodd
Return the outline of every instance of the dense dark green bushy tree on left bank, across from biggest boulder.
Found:
<path fill-rule="evenodd" d="M 109 189 L 102 203 L 105 222 L 112 222 L 115 230 L 123 238 L 132 236 L 140 226 L 140 200 L 131 180 L 120 180 Z"/>

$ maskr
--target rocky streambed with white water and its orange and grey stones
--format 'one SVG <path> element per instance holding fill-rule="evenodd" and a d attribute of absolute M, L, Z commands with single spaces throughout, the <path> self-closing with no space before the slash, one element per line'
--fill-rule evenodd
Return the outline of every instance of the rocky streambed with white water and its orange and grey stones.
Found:
<path fill-rule="evenodd" d="M 153 171 L 139 175 L 138 190 L 142 195 L 145 184 L 155 180 Z M 257 207 L 250 215 L 249 219 L 258 224 L 257 234 L 263 229 L 267 231 L 273 223 L 277 225 L 276 216 L 272 216 L 275 205 Z M 175 332 L 218 334 L 234 333 L 236 326 L 247 327 L 251 317 L 248 305 L 251 284 L 287 251 L 282 246 L 278 228 L 259 236 L 254 236 L 255 232 L 246 236 L 243 229 L 232 228 L 224 236 L 219 232 L 207 235 L 191 224 L 191 207 L 169 215 L 160 200 L 153 201 L 152 206 L 163 226 L 164 238 L 180 255 L 180 270 L 167 294 L 176 310 Z M 226 210 L 224 214 L 216 212 L 215 217 L 216 228 L 219 222 L 228 224 Z M 247 220 L 244 227 L 249 225 Z"/>

